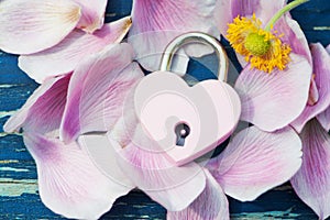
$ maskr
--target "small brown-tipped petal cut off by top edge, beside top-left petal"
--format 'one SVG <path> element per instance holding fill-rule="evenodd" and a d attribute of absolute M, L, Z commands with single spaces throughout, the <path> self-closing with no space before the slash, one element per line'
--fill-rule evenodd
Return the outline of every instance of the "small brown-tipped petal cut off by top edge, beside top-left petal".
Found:
<path fill-rule="evenodd" d="M 107 0 L 74 0 L 81 7 L 81 18 L 77 25 L 87 33 L 100 29 L 103 25 Z"/>

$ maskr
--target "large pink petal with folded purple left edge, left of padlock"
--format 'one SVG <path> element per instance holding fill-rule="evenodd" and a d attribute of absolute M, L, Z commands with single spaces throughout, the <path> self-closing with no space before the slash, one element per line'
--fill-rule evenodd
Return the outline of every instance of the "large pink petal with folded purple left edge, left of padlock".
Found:
<path fill-rule="evenodd" d="M 90 131 L 108 131 L 122 114 L 128 92 L 143 73 L 129 44 L 119 44 L 91 55 L 77 66 L 68 89 L 61 124 L 65 142 Z"/>

